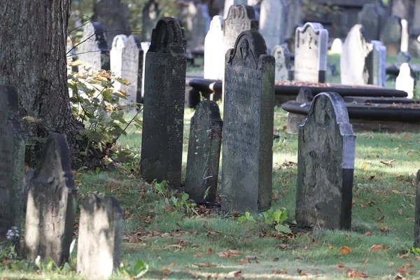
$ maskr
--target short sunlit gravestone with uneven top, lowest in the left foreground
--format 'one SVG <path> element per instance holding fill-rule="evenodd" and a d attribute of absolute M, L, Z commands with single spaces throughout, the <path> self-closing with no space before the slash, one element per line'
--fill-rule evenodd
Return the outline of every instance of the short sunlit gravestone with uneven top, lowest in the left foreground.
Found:
<path fill-rule="evenodd" d="M 82 201 L 77 272 L 87 279 L 107 279 L 120 267 L 123 210 L 114 197 L 88 194 Z"/>

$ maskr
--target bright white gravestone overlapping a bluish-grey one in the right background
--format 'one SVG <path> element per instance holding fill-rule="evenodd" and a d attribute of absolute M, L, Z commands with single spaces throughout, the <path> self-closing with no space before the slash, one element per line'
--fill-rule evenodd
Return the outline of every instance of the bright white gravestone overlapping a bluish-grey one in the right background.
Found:
<path fill-rule="evenodd" d="M 366 59 L 371 51 L 372 44 L 367 43 L 363 26 L 353 26 L 342 45 L 339 60 L 343 85 L 367 85 L 369 71 Z"/>

